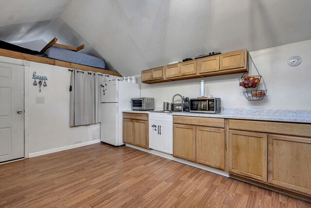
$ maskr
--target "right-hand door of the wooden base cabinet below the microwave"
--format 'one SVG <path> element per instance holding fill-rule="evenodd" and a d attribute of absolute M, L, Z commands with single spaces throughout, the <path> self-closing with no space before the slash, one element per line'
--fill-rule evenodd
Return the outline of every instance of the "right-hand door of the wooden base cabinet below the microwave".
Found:
<path fill-rule="evenodd" d="M 196 127 L 196 162 L 225 170 L 225 130 Z"/>

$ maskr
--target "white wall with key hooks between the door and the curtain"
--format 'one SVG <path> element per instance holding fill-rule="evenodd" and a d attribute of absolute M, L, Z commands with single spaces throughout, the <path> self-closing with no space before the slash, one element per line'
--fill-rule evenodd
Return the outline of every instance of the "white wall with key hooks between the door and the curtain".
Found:
<path fill-rule="evenodd" d="M 33 86 L 33 72 L 47 76 L 47 87 Z M 100 139 L 100 124 L 69 127 L 68 68 L 31 62 L 29 68 L 29 153 Z M 38 83 L 39 80 L 36 80 Z M 44 96 L 45 103 L 35 103 Z"/>

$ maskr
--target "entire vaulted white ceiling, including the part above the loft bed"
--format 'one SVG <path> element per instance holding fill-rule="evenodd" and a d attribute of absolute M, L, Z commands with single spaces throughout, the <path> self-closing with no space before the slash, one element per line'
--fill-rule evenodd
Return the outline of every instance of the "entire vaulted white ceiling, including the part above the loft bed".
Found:
<path fill-rule="evenodd" d="M 86 44 L 123 76 L 209 52 L 311 39 L 310 0 L 1 0 L 0 39 Z"/>

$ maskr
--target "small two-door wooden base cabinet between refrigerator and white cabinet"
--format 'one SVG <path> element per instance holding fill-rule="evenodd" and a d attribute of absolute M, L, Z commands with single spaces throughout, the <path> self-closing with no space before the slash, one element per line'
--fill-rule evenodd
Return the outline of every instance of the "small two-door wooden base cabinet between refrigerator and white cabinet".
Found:
<path fill-rule="evenodd" d="M 124 143 L 149 149 L 148 114 L 123 113 L 122 131 Z"/>

